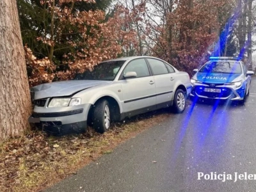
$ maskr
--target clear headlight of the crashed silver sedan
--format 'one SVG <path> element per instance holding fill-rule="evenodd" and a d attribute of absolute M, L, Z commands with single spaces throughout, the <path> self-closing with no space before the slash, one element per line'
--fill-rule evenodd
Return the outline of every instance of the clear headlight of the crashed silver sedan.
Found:
<path fill-rule="evenodd" d="M 49 103 L 48 108 L 77 106 L 79 104 L 81 104 L 81 98 L 54 98 Z"/>

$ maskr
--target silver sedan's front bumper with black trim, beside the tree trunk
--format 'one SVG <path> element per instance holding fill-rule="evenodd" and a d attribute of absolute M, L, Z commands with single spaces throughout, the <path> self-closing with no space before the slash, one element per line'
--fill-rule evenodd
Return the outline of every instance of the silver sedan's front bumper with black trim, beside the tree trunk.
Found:
<path fill-rule="evenodd" d="M 35 106 L 29 123 L 52 132 L 81 132 L 87 127 L 87 116 L 91 104 L 64 108 L 45 108 Z"/>

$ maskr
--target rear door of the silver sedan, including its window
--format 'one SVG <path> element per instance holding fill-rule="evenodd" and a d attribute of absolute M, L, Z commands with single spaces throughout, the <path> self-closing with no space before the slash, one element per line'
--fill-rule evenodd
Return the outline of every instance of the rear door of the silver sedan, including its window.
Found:
<path fill-rule="evenodd" d="M 175 70 L 161 60 L 147 58 L 156 83 L 156 104 L 158 108 L 169 106 L 173 99 Z M 170 68 L 168 70 L 168 68 Z M 170 71 L 172 70 L 172 72 Z"/>

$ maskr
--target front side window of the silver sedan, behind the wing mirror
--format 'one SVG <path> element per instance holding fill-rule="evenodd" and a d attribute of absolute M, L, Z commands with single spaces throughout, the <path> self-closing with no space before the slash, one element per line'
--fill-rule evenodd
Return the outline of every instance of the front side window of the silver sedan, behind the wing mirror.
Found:
<path fill-rule="evenodd" d="M 126 72 L 136 72 L 137 77 L 147 77 L 150 76 L 148 65 L 144 59 L 132 60 L 124 69 Z"/>

